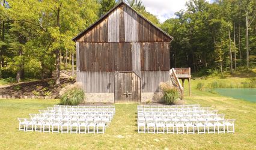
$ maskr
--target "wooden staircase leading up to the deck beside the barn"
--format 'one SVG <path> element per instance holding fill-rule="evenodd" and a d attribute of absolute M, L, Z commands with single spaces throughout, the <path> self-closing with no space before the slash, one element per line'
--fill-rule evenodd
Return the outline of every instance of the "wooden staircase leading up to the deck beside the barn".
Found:
<path fill-rule="evenodd" d="M 184 89 L 181 86 L 180 80 L 178 80 L 178 76 L 177 76 L 174 68 L 172 68 L 170 70 L 170 79 L 171 79 L 172 85 L 177 88 L 178 95 L 180 95 L 180 99 L 183 100 Z"/>

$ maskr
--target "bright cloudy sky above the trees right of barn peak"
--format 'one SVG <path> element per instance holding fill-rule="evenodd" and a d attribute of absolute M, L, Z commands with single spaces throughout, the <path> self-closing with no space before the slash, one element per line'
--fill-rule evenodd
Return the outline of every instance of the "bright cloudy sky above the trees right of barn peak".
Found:
<path fill-rule="evenodd" d="M 189 0 L 141 0 L 146 10 L 157 16 L 161 23 L 166 19 L 174 18 L 175 12 L 185 10 L 185 4 Z M 213 1 L 213 0 L 206 0 Z"/>

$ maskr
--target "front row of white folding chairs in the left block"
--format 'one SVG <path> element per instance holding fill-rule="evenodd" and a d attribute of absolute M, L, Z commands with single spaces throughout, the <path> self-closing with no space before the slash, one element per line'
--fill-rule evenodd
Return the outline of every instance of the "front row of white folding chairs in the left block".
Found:
<path fill-rule="evenodd" d="M 108 121 L 87 120 L 54 120 L 54 119 L 19 119 L 19 130 L 52 133 L 105 133 Z"/>

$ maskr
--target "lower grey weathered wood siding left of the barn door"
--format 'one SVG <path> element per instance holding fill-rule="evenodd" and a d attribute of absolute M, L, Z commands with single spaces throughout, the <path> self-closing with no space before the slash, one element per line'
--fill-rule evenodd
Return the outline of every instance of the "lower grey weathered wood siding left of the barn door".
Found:
<path fill-rule="evenodd" d="M 115 72 L 79 71 L 77 82 L 82 82 L 87 93 L 114 93 Z"/>

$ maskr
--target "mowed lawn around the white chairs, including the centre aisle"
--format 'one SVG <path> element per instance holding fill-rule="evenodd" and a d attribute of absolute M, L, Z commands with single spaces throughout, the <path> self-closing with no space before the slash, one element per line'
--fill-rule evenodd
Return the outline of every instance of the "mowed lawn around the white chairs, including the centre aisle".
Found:
<path fill-rule="evenodd" d="M 35 133 L 18 130 L 17 118 L 58 104 L 58 100 L 0 100 L 0 149 L 256 149 L 256 103 L 227 97 L 185 97 L 236 119 L 235 134 L 138 134 L 137 104 L 115 104 L 105 134 Z"/>

